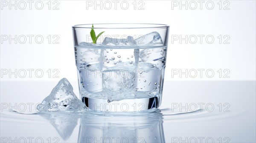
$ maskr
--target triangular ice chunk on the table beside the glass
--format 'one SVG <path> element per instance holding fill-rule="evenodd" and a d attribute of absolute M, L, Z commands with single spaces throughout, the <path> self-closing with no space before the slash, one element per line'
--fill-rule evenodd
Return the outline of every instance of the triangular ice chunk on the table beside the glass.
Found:
<path fill-rule="evenodd" d="M 84 110 L 84 103 L 76 97 L 70 82 L 63 78 L 52 92 L 37 106 L 40 112 L 77 112 Z"/>

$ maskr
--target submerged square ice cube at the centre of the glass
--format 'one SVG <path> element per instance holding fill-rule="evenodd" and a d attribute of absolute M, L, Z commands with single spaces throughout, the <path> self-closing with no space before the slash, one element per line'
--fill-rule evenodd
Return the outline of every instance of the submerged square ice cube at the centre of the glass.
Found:
<path fill-rule="evenodd" d="M 135 72 L 131 69 L 103 71 L 103 94 L 108 102 L 123 100 L 135 95 Z"/>

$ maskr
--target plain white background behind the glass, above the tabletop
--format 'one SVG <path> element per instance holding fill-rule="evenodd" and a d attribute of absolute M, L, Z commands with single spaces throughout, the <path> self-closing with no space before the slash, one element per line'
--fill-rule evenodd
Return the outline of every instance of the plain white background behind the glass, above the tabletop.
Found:
<path fill-rule="evenodd" d="M 85 23 L 169 25 L 165 80 L 256 79 L 256 1 L 254 0 L 202 1 L 201 6 L 201 2 L 198 1 L 182 1 L 182 4 L 187 3 L 187 9 L 186 6 L 180 8 L 180 1 L 169 0 L 135 2 L 134 0 L 116 2 L 32 0 L 31 2 L 11 1 L 11 3 L 14 6 L 10 6 L 9 0 L 1 0 L 1 81 L 58 81 L 66 77 L 75 82 L 77 73 L 71 26 Z M 16 7 L 15 3 L 17 3 Z M 94 7 L 95 4 L 99 5 Z M 5 40 L 6 35 L 7 40 Z M 9 35 L 12 38 L 17 35 L 17 40 L 9 41 Z M 19 40 L 20 35 L 26 37 L 25 43 L 23 37 Z M 27 35 L 34 36 L 31 43 Z M 44 38 L 43 43 L 37 43 L 40 42 L 40 38 L 38 41 L 35 40 L 37 35 Z M 50 44 L 49 35 L 51 35 Z M 57 36 L 53 37 L 54 35 Z M 187 44 L 185 40 L 180 42 L 174 39 L 180 35 L 182 38 L 188 35 Z M 189 40 L 191 35 L 197 37 L 195 44 L 192 44 L 194 39 Z M 204 35 L 201 42 L 198 35 Z M 214 37 L 213 43 L 209 43 L 211 38 L 206 40 L 207 35 Z M 219 35 L 221 35 L 221 43 Z M 53 44 L 57 38 L 59 38 L 55 41 L 57 44 Z M 227 40 L 226 44 L 224 44 L 225 40 Z M 10 74 L 15 72 L 15 69 L 17 73 Z M 31 75 L 28 69 L 33 70 Z M 53 71 L 54 69 L 56 70 Z M 185 74 L 181 74 L 180 77 L 180 73 L 172 76 L 174 71 L 180 69 L 182 72 L 188 70 L 187 78 Z M 201 77 L 198 69 L 204 70 Z M 206 74 L 207 69 L 214 72 L 212 77 L 211 72 Z M 40 77 L 40 71 L 35 74 L 36 70 L 40 70 L 44 75 Z M 195 78 L 192 78 L 195 75 L 193 71 L 197 71 Z M 4 72 L 8 73 L 4 74 Z M 57 78 L 53 78 L 57 72 Z M 227 78 L 224 78 L 225 74 Z"/>

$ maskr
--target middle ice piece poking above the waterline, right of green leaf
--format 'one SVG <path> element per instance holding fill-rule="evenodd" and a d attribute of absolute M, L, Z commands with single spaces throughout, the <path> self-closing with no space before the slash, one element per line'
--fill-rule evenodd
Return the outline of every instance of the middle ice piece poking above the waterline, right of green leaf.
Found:
<path fill-rule="evenodd" d="M 111 37 L 105 37 L 103 40 L 102 45 L 107 46 L 136 46 L 136 42 L 134 41 L 134 38 L 131 36 L 128 36 L 126 39 L 117 39 L 117 38 L 111 38 Z"/>

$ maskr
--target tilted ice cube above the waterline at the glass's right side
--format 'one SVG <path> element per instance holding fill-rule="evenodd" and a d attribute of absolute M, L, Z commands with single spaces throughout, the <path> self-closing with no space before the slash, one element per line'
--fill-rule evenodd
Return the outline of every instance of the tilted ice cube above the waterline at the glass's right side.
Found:
<path fill-rule="evenodd" d="M 151 32 L 137 38 L 137 46 L 163 45 L 163 40 L 158 32 Z"/>

